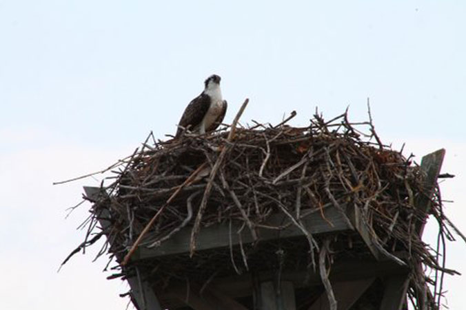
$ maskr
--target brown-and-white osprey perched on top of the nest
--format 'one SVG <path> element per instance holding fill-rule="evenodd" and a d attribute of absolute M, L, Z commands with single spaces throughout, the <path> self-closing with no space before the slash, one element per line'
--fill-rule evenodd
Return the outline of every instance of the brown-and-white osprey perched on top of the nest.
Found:
<path fill-rule="evenodd" d="M 204 91 L 191 100 L 181 116 L 175 137 L 179 137 L 183 128 L 188 126 L 190 131 L 201 134 L 214 131 L 220 126 L 227 111 L 227 102 L 222 99 L 220 80 L 220 76 L 215 74 L 205 80 Z"/>

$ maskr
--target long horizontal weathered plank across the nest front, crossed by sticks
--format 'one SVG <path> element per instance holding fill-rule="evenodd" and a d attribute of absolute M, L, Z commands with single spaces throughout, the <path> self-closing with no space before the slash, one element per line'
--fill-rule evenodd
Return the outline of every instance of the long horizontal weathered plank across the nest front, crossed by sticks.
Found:
<path fill-rule="evenodd" d="M 340 232 L 349 230 L 343 215 L 335 208 L 325 208 L 323 210 L 325 218 L 332 223 L 328 223 L 323 219 L 320 210 L 313 210 L 314 212 L 308 214 L 301 221 L 305 228 L 311 234 L 321 234 L 325 232 Z M 280 226 L 290 223 L 290 219 L 285 214 L 272 214 L 264 225 Z M 236 221 L 232 223 L 231 229 L 231 244 L 238 245 L 240 243 L 240 236 L 236 232 L 241 228 L 243 222 Z M 157 256 L 165 256 L 169 254 L 179 254 L 189 252 L 190 250 L 190 236 L 192 227 L 189 226 L 176 232 L 170 239 L 164 241 L 159 247 L 139 247 L 134 253 L 133 259 L 151 258 Z M 256 233 L 261 241 L 287 238 L 292 236 L 301 236 L 303 232 L 296 228 L 295 225 L 289 225 L 283 230 L 271 230 L 267 228 L 256 228 Z M 249 229 L 245 228 L 241 232 L 241 241 L 243 244 L 252 243 L 254 241 Z M 196 250 L 207 250 L 215 247 L 227 247 L 230 245 L 230 225 L 229 223 L 219 223 L 207 228 L 203 228 L 198 236 L 196 242 Z"/>

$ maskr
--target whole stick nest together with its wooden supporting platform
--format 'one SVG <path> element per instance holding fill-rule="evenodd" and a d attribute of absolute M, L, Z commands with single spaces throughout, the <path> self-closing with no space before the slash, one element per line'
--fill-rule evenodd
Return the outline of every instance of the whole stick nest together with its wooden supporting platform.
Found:
<path fill-rule="evenodd" d="M 106 236 L 138 309 L 436 309 L 423 267 L 454 272 L 421 236 L 444 155 L 417 166 L 346 113 L 146 140 L 85 188 L 101 230 L 77 250 Z"/>

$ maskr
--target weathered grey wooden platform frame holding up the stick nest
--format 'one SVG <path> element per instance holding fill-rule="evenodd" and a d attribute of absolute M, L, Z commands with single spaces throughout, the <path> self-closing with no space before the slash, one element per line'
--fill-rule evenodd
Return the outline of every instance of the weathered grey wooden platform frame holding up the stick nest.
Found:
<path fill-rule="evenodd" d="M 429 210 L 429 201 L 436 185 L 445 150 L 441 149 L 423 157 L 421 170 L 427 175 L 425 182 L 425 195 L 416 201 L 416 207 L 426 214 Z M 85 187 L 85 195 L 95 197 L 99 195 L 99 188 Z M 106 214 L 101 215 L 101 225 L 108 225 Z M 347 221 L 349 219 L 349 221 Z M 294 219 L 296 220 L 296 219 Z M 273 214 L 267 224 L 281 226 L 281 230 L 257 228 L 256 234 L 261 241 L 274 241 L 275 239 L 304 239 L 302 230 L 292 225 L 289 217 L 283 214 Z M 330 282 L 338 310 L 350 309 L 361 298 L 370 298 L 370 291 L 381 291 L 382 298 L 378 302 L 381 310 L 401 310 L 406 303 L 406 291 L 409 280 L 409 268 L 403 262 L 406 254 L 390 254 L 374 238 L 372 228 L 367 225 L 363 214 L 358 208 L 341 206 L 338 210 L 334 206 L 323 206 L 321 210 L 307 210 L 301 214 L 303 227 L 315 236 L 325 234 L 357 234 L 370 255 L 361 259 L 355 257 L 344 261 L 336 261 L 330 271 Z M 425 221 L 416 226 L 421 235 Z M 227 225 L 219 223 L 203 228 L 197 237 L 196 251 L 203 252 L 221 247 L 233 247 L 254 242 L 250 230 L 247 228 L 237 232 L 241 223 Z M 170 258 L 189 252 L 191 228 L 186 227 L 174 234 L 172 238 L 163 242 L 159 247 L 148 249 L 139 247 L 132 260 L 148 260 Z M 294 240 L 293 239 L 293 240 Z M 318 271 L 311 269 L 287 270 L 261 270 L 241 275 L 214 278 L 209 283 L 170 283 L 163 291 L 155 291 L 141 279 L 143 275 L 128 279 L 132 288 L 132 297 L 139 309 L 253 309 L 245 305 L 254 305 L 254 309 L 287 309 L 296 308 L 296 300 L 307 298 L 300 302 L 299 309 L 323 310 L 331 309 L 327 294 L 323 291 L 321 276 Z M 363 297 L 361 297 L 363 296 Z M 369 308 L 370 309 L 370 308 Z M 376 308 L 374 308 L 376 309 Z"/>

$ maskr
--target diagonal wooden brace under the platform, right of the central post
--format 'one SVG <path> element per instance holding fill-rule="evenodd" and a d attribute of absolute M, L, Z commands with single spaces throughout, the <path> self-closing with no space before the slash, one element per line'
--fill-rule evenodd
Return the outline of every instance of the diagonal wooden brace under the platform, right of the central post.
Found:
<path fill-rule="evenodd" d="M 341 281 L 332 284 L 335 299 L 338 302 L 338 310 L 349 310 L 365 291 L 374 283 L 376 278 L 365 278 L 354 281 Z M 321 296 L 311 305 L 309 310 L 330 310 L 327 293 Z"/>

